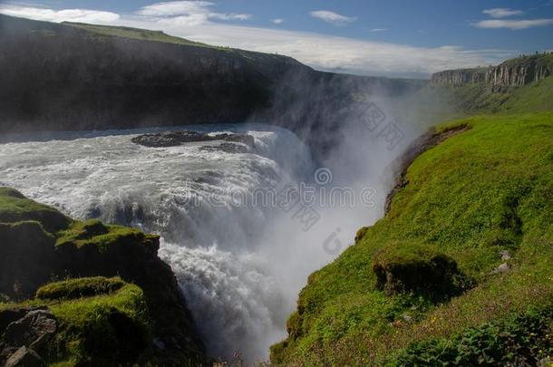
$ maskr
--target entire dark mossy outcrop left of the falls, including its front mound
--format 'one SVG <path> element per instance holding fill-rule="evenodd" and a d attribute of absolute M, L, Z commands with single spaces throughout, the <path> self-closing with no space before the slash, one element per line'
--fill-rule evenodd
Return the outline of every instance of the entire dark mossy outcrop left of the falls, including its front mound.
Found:
<path fill-rule="evenodd" d="M 0 238 L 2 365 L 207 362 L 158 236 L 0 188 Z"/>

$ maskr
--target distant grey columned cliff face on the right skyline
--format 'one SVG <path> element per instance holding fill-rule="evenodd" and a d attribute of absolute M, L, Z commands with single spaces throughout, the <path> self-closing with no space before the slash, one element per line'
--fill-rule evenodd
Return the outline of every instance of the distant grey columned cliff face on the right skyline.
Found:
<path fill-rule="evenodd" d="M 507 60 L 488 68 L 446 70 L 432 74 L 432 83 L 461 85 L 483 82 L 494 88 L 520 87 L 553 75 L 553 54 Z"/>

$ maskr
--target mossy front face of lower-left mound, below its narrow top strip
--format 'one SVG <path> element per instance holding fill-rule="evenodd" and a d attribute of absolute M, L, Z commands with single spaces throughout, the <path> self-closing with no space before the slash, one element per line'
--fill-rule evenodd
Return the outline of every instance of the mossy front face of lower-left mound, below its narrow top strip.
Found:
<path fill-rule="evenodd" d="M 111 295 L 51 304 L 50 308 L 60 328 L 48 348 L 53 362 L 132 363 L 149 349 L 148 311 L 136 285 L 124 285 Z"/>

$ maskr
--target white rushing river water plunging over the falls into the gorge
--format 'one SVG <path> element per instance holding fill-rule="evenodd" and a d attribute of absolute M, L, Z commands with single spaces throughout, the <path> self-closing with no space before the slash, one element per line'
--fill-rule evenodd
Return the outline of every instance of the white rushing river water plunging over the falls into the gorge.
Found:
<path fill-rule="evenodd" d="M 264 125 L 196 130 L 247 132 L 257 150 L 199 150 L 214 142 L 146 148 L 131 143 L 138 130 L 6 143 L 0 185 L 72 217 L 159 233 L 160 256 L 173 268 L 209 352 L 267 359 L 269 345 L 286 337 L 286 317 L 306 276 L 335 258 L 382 208 L 319 208 L 321 220 L 304 231 L 280 208 L 229 205 L 237 188 L 312 181 L 309 153 L 288 130 Z M 374 166 L 383 170 L 383 163 Z M 376 203 L 385 194 L 378 189 Z M 329 243 L 336 248 L 329 251 Z"/>

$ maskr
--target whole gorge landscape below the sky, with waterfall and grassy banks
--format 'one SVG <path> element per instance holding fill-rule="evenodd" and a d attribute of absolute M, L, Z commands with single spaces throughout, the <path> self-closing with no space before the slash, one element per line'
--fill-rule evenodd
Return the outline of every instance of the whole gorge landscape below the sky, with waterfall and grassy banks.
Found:
<path fill-rule="evenodd" d="M 550 53 L 388 79 L 2 14 L 0 46 L 0 362 L 36 313 L 48 364 L 549 361 Z"/>

